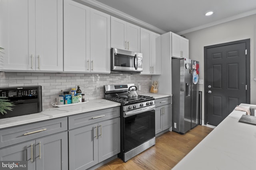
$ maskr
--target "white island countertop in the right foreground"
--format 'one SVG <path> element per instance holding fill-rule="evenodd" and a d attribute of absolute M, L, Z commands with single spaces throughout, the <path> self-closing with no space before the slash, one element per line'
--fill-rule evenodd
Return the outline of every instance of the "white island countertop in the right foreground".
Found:
<path fill-rule="evenodd" d="M 255 170 L 256 125 L 238 122 L 243 114 L 232 111 L 172 170 Z"/>

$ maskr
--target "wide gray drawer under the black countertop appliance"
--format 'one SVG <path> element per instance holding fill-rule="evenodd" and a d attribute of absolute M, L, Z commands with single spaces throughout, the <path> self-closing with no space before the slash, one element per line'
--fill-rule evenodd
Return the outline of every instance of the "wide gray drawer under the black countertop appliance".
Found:
<path fill-rule="evenodd" d="M 68 130 L 67 117 L 0 130 L 0 148 Z"/>

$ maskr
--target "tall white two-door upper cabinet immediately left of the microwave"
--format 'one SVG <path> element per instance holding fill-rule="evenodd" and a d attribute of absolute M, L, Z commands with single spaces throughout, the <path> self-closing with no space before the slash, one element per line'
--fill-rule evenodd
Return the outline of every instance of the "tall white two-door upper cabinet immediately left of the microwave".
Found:
<path fill-rule="evenodd" d="M 110 72 L 110 15 L 64 0 L 64 72 Z"/>

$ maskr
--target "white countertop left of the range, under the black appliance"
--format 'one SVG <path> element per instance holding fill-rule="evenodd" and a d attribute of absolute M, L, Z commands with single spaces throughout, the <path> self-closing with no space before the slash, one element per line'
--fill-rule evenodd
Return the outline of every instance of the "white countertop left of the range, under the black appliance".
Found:
<path fill-rule="evenodd" d="M 106 109 L 106 108 L 116 107 L 116 106 L 120 106 L 120 104 L 109 101 L 109 100 L 105 100 L 105 99 L 90 100 L 88 103 L 84 103 L 76 106 L 66 106 L 66 107 L 44 106 L 43 111 L 41 111 L 40 113 L 0 119 L 0 129 L 17 126 L 17 125 L 23 125 L 26 123 L 33 123 L 37 121 L 54 119 L 58 117 L 65 117 L 65 116 L 74 115 L 78 113 L 96 111 L 96 110 Z"/>

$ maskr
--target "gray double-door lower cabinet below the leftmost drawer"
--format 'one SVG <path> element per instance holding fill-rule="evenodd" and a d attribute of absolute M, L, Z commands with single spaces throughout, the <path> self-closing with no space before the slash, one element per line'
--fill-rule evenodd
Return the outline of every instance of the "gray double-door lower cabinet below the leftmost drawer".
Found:
<path fill-rule="evenodd" d="M 28 161 L 28 170 L 68 170 L 68 132 L 0 149 L 0 156 Z"/>

